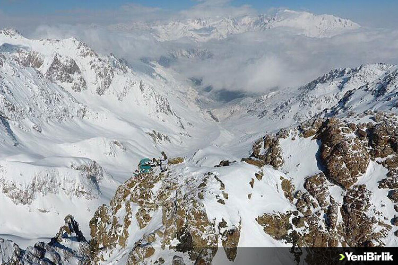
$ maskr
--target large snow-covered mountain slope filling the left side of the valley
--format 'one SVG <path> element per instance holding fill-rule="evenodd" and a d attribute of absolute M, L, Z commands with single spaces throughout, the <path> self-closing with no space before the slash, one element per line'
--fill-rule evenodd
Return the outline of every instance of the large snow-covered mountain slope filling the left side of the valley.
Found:
<path fill-rule="evenodd" d="M 10 213 L 0 216 L 0 234 L 49 237 L 66 214 L 87 234 L 92 211 L 142 156 L 202 144 L 198 133 L 214 121 L 195 90 L 159 65 L 151 71 L 136 73 L 73 38 L 0 31 L 0 198 Z"/>

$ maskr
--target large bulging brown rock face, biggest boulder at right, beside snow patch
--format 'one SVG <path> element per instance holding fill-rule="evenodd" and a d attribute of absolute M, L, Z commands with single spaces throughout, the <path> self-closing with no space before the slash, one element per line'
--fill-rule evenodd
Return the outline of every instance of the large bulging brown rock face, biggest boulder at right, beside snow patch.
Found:
<path fill-rule="evenodd" d="M 355 136 L 346 136 L 340 127 L 337 119 L 329 119 L 320 128 L 320 160 L 326 176 L 348 189 L 365 173 L 370 157 L 363 142 Z"/>

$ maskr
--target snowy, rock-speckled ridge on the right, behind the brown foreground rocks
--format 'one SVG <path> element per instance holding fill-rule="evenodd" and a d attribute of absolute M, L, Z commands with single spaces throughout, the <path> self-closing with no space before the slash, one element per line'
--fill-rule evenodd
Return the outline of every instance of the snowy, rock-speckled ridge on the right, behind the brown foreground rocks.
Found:
<path fill-rule="evenodd" d="M 281 121 L 282 126 L 298 124 L 320 114 L 330 117 L 369 109 L 396 111 L 397 71 L 398 67 L 391 64 L 334 69 L 298 89 L 247 97 L 212 111 L 227 123 L 254 119 L 271 126 Z"/>

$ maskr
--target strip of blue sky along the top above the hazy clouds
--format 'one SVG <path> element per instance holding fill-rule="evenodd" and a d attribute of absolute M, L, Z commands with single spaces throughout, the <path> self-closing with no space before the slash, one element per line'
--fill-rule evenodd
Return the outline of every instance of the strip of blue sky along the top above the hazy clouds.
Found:
<path fill-rule="evenodd" d="M 229 6 L 250 5 L 258 12 L 270 8 L 307 10 L 315 14 L 334 14 L 350 18 L 362 25 L 395 27 L 398 23 L 398 1 L 396 0 L 207 0 L 208 2 L 229 2 Z M 187 10 L 201 1 L 195 0 L 0 0 L 0 10 L 10 16 L 57 16 L 71 10 L 117 10 L 125 4 L 139 4 L 162 8 L 169 12 Z"/>

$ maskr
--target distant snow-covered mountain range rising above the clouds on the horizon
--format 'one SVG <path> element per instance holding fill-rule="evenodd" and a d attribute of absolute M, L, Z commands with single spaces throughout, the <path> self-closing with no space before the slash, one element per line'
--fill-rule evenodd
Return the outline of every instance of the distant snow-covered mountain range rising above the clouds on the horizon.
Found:
<path fill-rule="evenodd" d="M 117 24 L 113 29 L 124 31 L 149 31 L 159 41 L 189 38 L 204 42 L 225 39 L 229 35 L 268 29 L 288 29 L 307 37 L 333 37 L 358 29 L 360 26 L 349 20 L 332 15 L 314 15 L 309 12 L 279 10 L 274 15 L 180 19 L 167 23 Z"/>

